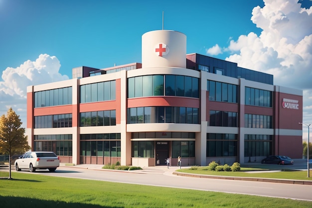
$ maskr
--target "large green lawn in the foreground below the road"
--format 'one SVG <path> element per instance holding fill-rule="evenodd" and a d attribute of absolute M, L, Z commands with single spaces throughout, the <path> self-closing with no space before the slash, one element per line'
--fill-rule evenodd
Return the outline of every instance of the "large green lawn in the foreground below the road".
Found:
<path fill-rule="evenodd" d="M 0 172 L 0 177 L 7 177 Z M 312 202 L 12 172 L 3 208 L 307 208 Z"/>

